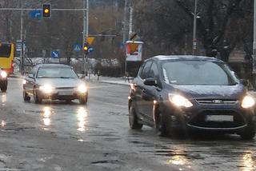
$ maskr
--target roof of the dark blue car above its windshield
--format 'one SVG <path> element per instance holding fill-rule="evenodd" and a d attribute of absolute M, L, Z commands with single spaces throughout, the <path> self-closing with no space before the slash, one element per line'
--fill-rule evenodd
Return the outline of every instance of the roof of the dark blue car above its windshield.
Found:
<path fill-rule="evenodd" d="M 193 56 L 193 55 L 158 55 L 149 59 L 157 61 L 208 61 L 208 62 L 222 62 L 218 58 Z"/>

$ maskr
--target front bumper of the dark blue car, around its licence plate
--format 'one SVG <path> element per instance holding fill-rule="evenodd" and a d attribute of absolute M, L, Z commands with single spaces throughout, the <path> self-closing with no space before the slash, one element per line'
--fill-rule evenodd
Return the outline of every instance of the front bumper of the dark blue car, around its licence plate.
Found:
<path fill-rule="evenodd" d="M 181 109 L 167 105 L 165 113 L 168 123 L 174 129 L 191 129 L 202 131 L 218 131 L 222 133 L 238 133 L 256 121 L 254 109 L 242 109 L 236 105 L 197 105 L 190 109 Z M 230 121 L 208 120 L 209 116 L 218 119 L 232 118 Z"/>

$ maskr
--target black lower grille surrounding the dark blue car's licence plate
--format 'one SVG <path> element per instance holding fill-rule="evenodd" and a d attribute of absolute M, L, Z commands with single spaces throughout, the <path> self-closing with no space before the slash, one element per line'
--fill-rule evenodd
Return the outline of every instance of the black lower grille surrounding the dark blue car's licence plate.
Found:
<path fill-rule="evenodd" d="M 206 121 L 207 115 L 232 115 L 234 121 Z M 188 125 L 203 128 L 237 128 L 246 125 L 246 121 L 234 110 L 205 110 L 192 117 Z"/>

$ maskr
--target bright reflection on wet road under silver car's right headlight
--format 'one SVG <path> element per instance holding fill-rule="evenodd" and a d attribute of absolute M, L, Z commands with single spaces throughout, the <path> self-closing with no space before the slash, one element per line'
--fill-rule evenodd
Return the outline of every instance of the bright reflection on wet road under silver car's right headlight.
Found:
<path fill-rule="evenodd" d="M 86 131 L 86 123 L 87 123 L 88 112 L 86 107 L 80 107 L 77 113 L 78 119 L 78 131 L 84 132 Z"/>

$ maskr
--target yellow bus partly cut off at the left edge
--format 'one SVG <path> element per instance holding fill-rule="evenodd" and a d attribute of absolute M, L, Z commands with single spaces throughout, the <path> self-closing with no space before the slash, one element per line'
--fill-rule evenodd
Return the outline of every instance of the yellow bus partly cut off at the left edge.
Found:
<path fill-rule="evenodd" d="M 14 44 L 0 42 L 0 68 L 6 73 L 14 73 Z"/>

